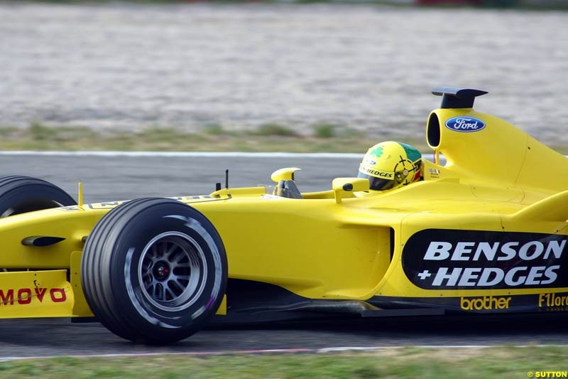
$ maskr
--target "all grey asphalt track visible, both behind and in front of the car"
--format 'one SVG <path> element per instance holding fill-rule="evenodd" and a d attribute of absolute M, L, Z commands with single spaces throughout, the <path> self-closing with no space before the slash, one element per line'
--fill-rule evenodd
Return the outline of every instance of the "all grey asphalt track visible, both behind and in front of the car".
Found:
<path fill-rule="evenodd" d="M 329 188 L 335 176 L 356 172 L 358 159 L 314 157 L 152 157 L 1 155 L 2 175 L 38 176 L 85 201 L 207 193 L 215 181 L 229 186 L 268 184 L 273 169 L 297 166 L 302 190 Z M 320 323 L 251 324 L 209 328 L 171 346 L 124 341 L 97 323 L 70 319 L 0 320 L 0 361 L 11 357 L 90 356 L 240 351 L 329 351 L 330 348 L 390 346 L 558 345 L 568 341 L 566 314 L 361 319 Z"/>

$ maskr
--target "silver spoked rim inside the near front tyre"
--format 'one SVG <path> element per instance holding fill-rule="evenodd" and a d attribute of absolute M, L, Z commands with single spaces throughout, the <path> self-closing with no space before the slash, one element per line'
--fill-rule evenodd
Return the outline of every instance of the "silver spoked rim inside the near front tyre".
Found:
<path fill-rule="evenodd" d="M 142 294 L 153 306 L 181 311 L 201 296 L 207 282 L 207 261 L 200 245 L 184 233 L 153 237 L 138 262 Z"/>

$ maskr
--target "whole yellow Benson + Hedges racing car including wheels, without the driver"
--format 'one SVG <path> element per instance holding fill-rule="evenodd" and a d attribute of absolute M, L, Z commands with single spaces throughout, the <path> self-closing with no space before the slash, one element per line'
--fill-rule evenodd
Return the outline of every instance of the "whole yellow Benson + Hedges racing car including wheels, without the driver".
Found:
<path fill-rule="evenodd" d="M 0 179 L 0 317 L 96 317 L 168 343 L 212 321 L 568 310 L 568 160 L 441 87 L 422 181 L 78 204 Z M 445 164 L 439 164 L 439 156 Z"/>

